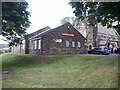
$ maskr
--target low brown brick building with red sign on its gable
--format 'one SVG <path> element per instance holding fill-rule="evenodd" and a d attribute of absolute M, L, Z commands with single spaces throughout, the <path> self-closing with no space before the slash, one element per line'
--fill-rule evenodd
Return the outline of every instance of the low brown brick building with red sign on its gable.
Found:
<path fill-rule="evenodd" d="M 27 54 L 76 54 L 86 53 L 86 39 L 70 23 L 57 28 L 45 27 L 25 36 L 25 42 L 18 45 L 17 52 L 21 53 L 21 46 L 24 46 L 24 53 Z M 16 48 L 12 47 L 12 52 Z"/>

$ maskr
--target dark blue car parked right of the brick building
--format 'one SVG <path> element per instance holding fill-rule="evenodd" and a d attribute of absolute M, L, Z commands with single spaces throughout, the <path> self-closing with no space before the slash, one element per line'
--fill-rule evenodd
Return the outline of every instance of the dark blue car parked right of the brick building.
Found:
<path fill-rule="evenodd" d="M 88 51 L 89 54 L 102 54 L 102 55 L 109 55 L 110 50 L 108 48 L 94 48 Z"/>

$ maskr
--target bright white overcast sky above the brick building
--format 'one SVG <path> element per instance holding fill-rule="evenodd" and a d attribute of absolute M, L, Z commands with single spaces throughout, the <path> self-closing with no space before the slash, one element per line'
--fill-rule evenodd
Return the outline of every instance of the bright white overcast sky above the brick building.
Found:
<path fill-rule="evenodd" d="M 60 25 L 63 17 L 74 16 L 69 0 L 26 0 L 29 3 L 28 11 L 31 13 L 28 33 L 39 30 L 45 26 L 51 28 Z"/>

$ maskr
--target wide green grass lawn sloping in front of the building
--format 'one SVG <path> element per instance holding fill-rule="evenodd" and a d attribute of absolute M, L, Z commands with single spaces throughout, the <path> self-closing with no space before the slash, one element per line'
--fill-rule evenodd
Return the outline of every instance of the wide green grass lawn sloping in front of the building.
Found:
<path fill-rule="evenodd" d="M 117 88 L 118 57 L 3 54 L 3 88 Z"/>

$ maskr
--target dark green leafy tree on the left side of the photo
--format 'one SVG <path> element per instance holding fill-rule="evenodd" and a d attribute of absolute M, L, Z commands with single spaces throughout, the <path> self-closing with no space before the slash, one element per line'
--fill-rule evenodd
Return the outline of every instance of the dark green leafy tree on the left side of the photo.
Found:
<path fill-rule="evenodd" d="M 2 36 L 6 37 L 11 45 L 21 43 L 30 26 L 30 13 L 26 10 L 27 2 L 2 3 Z"/>

